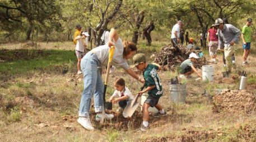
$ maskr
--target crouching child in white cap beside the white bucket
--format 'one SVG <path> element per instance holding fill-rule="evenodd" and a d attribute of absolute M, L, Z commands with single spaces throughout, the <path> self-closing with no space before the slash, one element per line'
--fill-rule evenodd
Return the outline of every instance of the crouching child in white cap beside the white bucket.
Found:
<path fill-rule="evenodd" d="M 194 67 L 193 63 L 197 62 L 197 59 L 199 56 L 195 53 L 190 53 L 189 58 L 187 60 L 184 60 L 180 64 L 180 78 L 187 78 L 188 75 L 196 72 L 199 77 L 202 78 L 202 75 L 197 71 L 197 69 Z"/>

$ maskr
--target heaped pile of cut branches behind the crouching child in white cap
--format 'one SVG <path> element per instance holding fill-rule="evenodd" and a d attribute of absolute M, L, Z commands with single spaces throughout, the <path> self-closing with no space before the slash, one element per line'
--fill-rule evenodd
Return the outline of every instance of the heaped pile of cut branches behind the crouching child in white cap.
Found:
<path fill-rule="evenodd" d="M 184 60 L 188 59 L 190 53 L 199 53 L 199 50 L 188 49 L 186 46 L 178 45 L 176 48 L 169 44 L 164 46 L 159 53 L 155 55 L 153 62 L 160 64 L 165 70 L 176 69 L 176 65 L 181 64 Z M 197 63 L 194 64 L 196 68 L 201 68 L 203 65 L 207 65 L 208 61 L 206 58 L 198 59 Z"/>

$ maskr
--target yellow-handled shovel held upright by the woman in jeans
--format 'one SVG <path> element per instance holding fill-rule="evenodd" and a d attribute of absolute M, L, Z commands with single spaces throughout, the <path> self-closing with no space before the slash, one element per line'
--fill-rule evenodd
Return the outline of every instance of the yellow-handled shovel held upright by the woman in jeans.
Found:
<path fill-rule="evenodd" d="M 105 104 L 106 104 L 105 96 L 106 96 L 106 87 L 108 86 L 109 70 L 110 70 L 110 65 L 111 65 L 111 62 L 112 62 L 112 58 L 113 58 L 114 53 L 115 53 L 115 47 L 114 47 L 114 46 L 111 46 L 110 49 L 109 49 L 109 62 L 108 62 L 108 68 L 106 68 L 106 77 L 105 77 L 105 82 L 104 82 L 103 110 L 102 110 L 102 113 L 101 113 L 102 116 L 105 116 Z M 100 119 L 100 124 L 103 124 L 103 122 L 104 122 L 104 117 L 101 117 L 101 119 Z"/>

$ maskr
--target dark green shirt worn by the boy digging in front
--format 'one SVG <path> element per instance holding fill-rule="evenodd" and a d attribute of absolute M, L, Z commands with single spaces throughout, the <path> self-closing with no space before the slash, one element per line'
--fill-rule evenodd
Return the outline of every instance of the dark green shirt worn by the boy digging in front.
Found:
<path fill-rule="evenodd" d="M 148 64 L 147 68 L 143 72 L 143 77 L 145 79 L 145 87 L 148 86 L 156 86 L 155 88 L 148 91 L 148 95 L 152 95 L 155 97 L 161 97 L 162 96 L 162 84 L 159 78 L 159 75 L 157 74 L 156 70 L 159 68 L 156 65 Z"/>

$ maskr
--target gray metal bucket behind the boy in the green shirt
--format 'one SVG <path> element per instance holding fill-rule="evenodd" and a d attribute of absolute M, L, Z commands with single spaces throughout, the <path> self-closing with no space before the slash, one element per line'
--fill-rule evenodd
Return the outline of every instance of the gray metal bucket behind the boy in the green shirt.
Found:
<path fill-rule="evenodd" d="M 187 84 L 169 84 L 170 99 L 174 103 L 184 103 L 187 96 Z"/>

